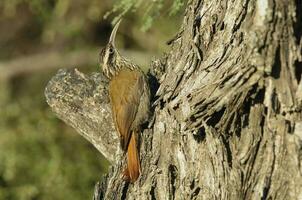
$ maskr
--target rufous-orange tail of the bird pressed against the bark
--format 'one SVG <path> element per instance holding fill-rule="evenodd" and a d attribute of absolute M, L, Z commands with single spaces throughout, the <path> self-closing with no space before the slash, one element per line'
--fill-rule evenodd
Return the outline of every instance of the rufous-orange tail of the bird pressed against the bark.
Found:
<path fill-rule="evenodd" d="M 137 180 L 140 173 L 139 155 L 135 137 L 135 133 L 133 132 L 127 150 L 128 169 L 125 171 L 125 176 L 131 183 Z"/>

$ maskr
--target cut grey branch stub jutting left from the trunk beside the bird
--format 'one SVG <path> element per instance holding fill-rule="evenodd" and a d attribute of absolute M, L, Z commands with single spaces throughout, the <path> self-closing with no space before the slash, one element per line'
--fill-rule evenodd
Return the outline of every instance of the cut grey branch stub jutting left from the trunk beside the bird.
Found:
<path fill-rule="evenodd" d="M 56 115 L 112 163 L 119 141 L 111 117 L 107 85 L 108 80 L 102 74 L 87 76 L 77 69 L 63 69 L 49 81 L 45 96 Z"/>

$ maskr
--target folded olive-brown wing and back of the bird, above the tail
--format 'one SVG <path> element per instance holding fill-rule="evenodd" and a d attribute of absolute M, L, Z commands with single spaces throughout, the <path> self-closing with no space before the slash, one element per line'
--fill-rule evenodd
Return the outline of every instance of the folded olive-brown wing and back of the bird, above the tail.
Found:
<path fill-rule="evenodd" d="M 122 70 L 110 81 L 109 94 L 113 118 L 124 151 L 127 150 L 131 125 L 135 120 L 140 103 L 142 79 L 142 72 Z"/>

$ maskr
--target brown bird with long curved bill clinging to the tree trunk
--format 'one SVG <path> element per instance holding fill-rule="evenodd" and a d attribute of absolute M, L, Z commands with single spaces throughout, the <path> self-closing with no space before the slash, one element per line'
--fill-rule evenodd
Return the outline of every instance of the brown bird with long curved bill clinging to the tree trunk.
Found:
<path fill-rule="evenodd" d="M 150 87 L 142 69 L 116 48 L 115 37 L 121 21 L 115 24 L 108 43 L 100 52 L 100 67 L 109 79 L 112 118 L 121 149 L 127 153 L 124 178 L 134 183 L 141 173 L 138 143 L 142 125 L 150 115 Z"/>

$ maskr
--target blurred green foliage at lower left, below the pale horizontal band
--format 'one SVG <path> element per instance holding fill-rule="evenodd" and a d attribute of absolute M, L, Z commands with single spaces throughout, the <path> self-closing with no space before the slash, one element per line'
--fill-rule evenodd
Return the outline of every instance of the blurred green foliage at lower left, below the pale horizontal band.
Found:
<path fill-rule="evenodd" d="M 44 103 L 47 79 L 33 75 L 0 90 L 14 91 L 1 98 L 0 200 L 90 199 L 108 165 Z"/>

